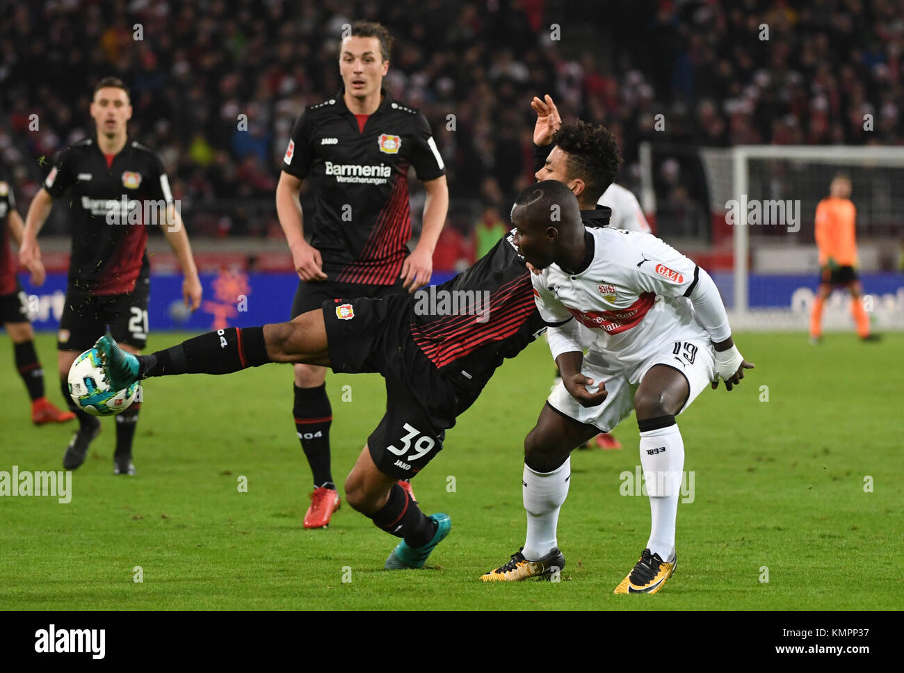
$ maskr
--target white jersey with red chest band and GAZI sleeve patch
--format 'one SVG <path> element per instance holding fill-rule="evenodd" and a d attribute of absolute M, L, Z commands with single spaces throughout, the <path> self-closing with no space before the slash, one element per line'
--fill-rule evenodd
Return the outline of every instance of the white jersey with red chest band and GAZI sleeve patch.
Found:
<path fill-rule="evenodd" d="M 594 250 L 589 266 L 570 276 L 551 264 L 532 275 L 541 317 L 561 324 L 574 317 L 589 328 L 578 332 L 584 348 L 619 360 L 642 360 L 677 338 L 709 335 L 683 299 L 697 285 L 691 259 L 653 234 L 585 228 Z M 592 341 L 591 341 L 592 340 Z"/>

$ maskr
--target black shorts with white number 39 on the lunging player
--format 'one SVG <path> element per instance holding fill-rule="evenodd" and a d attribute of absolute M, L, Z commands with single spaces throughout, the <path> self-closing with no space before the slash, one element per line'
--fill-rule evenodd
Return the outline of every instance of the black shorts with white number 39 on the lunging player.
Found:
<path fill-rule="evenodd" d="M 444 377 L 411 339 L 409 296 L 334 299 L 323 311 L 331 369 L 386 379 L 386 414 L 367 438 L 373 463 L 410 479 L 442 451 L 446 430 L 480 390 Z"/>

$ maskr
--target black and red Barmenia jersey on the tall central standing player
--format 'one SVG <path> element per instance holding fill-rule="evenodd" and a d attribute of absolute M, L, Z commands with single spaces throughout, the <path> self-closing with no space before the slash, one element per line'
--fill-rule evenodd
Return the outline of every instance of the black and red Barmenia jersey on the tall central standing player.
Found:
<path fill-rule="evenodd" d="M 315 210 L 305 218 L 324 272 L 338 283 L 392 285 L 409 250 L 408 170 L 421 181 L 446 173 L 417 109 L 385 90 L 363 130 L 344 90 L 298 117 L 282 170 L 314 182 Z"/>

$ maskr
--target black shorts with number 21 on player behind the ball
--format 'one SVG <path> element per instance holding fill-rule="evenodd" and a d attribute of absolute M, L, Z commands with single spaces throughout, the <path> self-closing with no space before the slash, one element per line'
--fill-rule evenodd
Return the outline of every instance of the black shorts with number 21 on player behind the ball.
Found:
<path fill-rule="evenodd" d="M 66 304 L 60 317 L 57 337 L 59 351 L 87 351 L 107 332 L 113 338 L 139 351 L 147 345 L 147 299 L 150 285 L 138 279 L 128 294 L 82 294 L 66 292 Z"/>

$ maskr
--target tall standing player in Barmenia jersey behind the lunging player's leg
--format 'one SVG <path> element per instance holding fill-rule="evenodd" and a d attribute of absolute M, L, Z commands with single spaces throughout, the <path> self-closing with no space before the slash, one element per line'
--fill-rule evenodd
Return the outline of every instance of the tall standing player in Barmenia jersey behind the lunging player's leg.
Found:
<path fill-rule="evenodd" d="M 279 222 L 300 279 L 292 318 L 326 299 L 414 292 L 430 280 L 448 207 L 446 172 L 427 119 L 381 89 L 391 41 L 379 23 L 354 23 L 339 55 L 343 89 L 308 106 L 292 130 L 277 187 Z M 411 253 L 410 167 L 427 192 Z M 307 227 L 298 202 L 304 180 L 315 186 Z M 315 486 L 305 528 L 326 526 L 340 504 L 330 467 L 333 411 L 325 376 L 323 367 L 295 367 L 293 415 Z"/>

